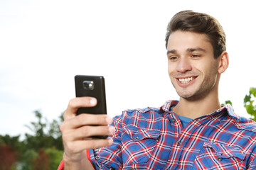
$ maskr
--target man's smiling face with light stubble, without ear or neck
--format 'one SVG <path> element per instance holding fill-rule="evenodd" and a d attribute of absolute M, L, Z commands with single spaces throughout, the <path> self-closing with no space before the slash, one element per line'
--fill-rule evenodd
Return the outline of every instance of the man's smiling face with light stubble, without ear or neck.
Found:
<path fill-rule="evenodd" d="M 201 33 L 175 31 L 167 45 L 168 71 L 178 95 L 197 100 L 210 93 L 218 94 L 218 60 L 213 46 Z"/>

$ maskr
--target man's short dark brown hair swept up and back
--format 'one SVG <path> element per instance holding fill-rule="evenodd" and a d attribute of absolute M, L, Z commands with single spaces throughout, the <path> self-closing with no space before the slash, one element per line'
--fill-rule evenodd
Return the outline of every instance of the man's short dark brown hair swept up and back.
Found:
<path fill-rule="evenodd" d="M 213 45 L 213 55 L 218 58 L 226 50 L 225 32 L 220 23 L 213 16 L 206 13 L 194 11 L 181 11 L 175 14 L 168 24 L 166 32 L 166 48 L 171 33 L 176 30 L 191 31 L 195 33 L 205 33 L 210 44 Z"/>

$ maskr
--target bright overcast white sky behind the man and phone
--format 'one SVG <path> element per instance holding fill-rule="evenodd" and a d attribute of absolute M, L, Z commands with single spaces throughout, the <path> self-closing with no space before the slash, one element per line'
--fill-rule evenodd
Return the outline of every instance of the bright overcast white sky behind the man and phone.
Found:
<path fill-rule="evenodd" d="M 248 117 L 243 98 L 256 87 L 253 3 L 0 0 L 0 134 L 27 132 L 36 110 L 57 119 L 75 97 L 75 74 L 105 77 L 111 116 L 178 99 L 164 38 L 171 17 L 186 9 L 209 13 L 223 26 L 230 67 L 220 102 L 233 101 L 235 112 Z"/>

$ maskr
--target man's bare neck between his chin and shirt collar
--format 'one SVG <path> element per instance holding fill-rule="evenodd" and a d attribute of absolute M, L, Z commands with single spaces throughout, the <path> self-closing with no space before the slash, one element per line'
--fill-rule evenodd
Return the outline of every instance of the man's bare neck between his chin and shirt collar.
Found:
<path fill-rule="evenodd" d="M 218 96 L 208 96 L 207 98 L 196 101 L 188 101 L 185 98 L 180 98 L 178 104 L 173 108 L 177 115 L 182 115 L 187 118 L 198 118 L 202 115 L 213 113 L 220 108 Z"/>

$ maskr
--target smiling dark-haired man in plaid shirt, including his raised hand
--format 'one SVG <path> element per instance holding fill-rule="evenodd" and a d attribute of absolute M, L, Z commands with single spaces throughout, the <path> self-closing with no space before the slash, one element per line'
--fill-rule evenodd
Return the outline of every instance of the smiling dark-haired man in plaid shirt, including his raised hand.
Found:
<path fill-rule="evenodd" d="M 78 108 L 97 101 L 72 99 L 60 125 L 65 169 L 256 169 L 255 122 L 235 115 L 230 105 L 221 107 L 218 99 L 220 74 L 229 62 L 218 21 L 205 13 L 176 13 L 166 49 L 180 100 L 124 111 L 112 120 L 76 116 Z M 87 138 L 92 135 L 111 137 Z"/>

